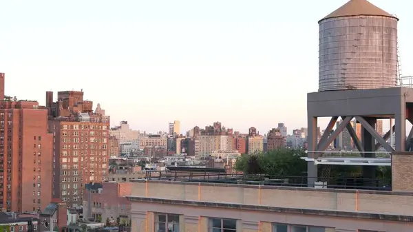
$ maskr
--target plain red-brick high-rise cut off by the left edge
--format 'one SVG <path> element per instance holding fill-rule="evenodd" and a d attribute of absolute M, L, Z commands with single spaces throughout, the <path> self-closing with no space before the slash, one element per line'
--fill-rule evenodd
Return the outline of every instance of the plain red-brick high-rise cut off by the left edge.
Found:
<path fill-rule="evenodd" d="M 52 134 L 36 101 L 4 95 L 0 74 L 0 209 L 39 211 L 52 200 Z"/>

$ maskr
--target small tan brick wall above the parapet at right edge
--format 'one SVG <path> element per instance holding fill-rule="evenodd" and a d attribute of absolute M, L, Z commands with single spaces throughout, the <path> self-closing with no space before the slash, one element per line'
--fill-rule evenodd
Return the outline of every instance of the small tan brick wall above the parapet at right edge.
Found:
<path fill-rule="evenodd" d="M 413 152 L 392 154 L 393 191 L 413 191 Z"/>

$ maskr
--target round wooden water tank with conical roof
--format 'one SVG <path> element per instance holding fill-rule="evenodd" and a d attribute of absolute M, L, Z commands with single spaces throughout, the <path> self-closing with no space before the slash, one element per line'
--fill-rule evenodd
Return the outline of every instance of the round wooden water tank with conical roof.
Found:
<path fill-rule="evenodd" d="M 397 85 L 397 19 L 350 0 L 319 21 L 319 92 Z"/>

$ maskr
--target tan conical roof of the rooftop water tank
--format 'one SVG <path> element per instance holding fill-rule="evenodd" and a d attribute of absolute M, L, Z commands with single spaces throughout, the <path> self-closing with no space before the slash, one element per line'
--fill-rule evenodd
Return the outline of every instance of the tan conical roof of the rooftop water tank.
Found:
<path fill-rule="evenodd" d="M 383 16 L 383 17 L 391 17 L 397 19 L 394 15 L 381 10 L 377 6 L 374 6 L 367 0 L 350 0 L 331 14 L 328 14 L 326 17 L 321 19 L 330 19 L 330 18 L 337 18 L 337 17 L 351 17 L 351 16 L 359 16 L 359 15 L 373 15 L 373 16 Z M 399 19 L 397 19 L 399 20 Z M 320 22 L 319 21 L 319 22 Z"/>

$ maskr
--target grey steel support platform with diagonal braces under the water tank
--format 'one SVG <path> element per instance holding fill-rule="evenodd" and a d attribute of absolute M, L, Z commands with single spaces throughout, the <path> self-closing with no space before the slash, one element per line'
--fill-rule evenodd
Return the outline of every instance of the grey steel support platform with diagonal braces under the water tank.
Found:
<path fill-rule="evenodd" d="M 308 158 L 319 158 L 329 145 L 339 136 L 343 129 L 348 132 L 354 141 L 354 145 L 365 158 L 374 158 L 374 151 L 383 147 L 386 151 L 408 151 L 413 150 L 410 145 L 413 130 L 406 139 L 405 121 L 413 124 L 413 88 L 410 87 L 388 87 L 381 89 L 355 89 L 313 92 L 307 94 L 308 113 Z M 317 118 L 331 117 L 324 134 L 317 143 Z M 334 129 L 337 119 L 341 117 L 342 122 Z M 355 118 L 361 124 L 361 140 L 357 138 L 356 132 L 350 121 Z M 395 134 L 395 148 L 386 142 L 391 132 L 381 136 L 377 133 L 375 125 L 377 119 L 394 118 L 394 126 L 390 131 Z M 334 129 L 334 130 L 333 130 Z M 376 141 L 378 143 L 376 143 Z M 412 147 L 412 148 L 411 148 Z M 366 177 L 375 176 L 372 169 L 363 172 Z M 317 176 L 317 166 L 314 162 L 308 162 L 308 176 Z M 309 185 L 310 182 L 308 183 Z"/>

